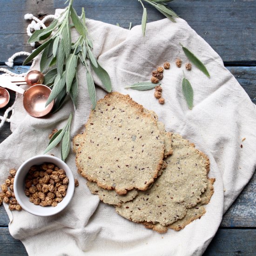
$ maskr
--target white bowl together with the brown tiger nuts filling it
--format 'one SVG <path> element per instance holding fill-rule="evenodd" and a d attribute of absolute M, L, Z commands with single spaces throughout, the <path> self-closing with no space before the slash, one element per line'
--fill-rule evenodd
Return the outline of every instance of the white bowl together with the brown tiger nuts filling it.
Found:
<path fill-rule="evenodd" d="M 71 201 L 74 176 L 61 159 L 37 155 L 17 170 L 13 191 L 22 209 L 37 216 L 52 216 Z"/>

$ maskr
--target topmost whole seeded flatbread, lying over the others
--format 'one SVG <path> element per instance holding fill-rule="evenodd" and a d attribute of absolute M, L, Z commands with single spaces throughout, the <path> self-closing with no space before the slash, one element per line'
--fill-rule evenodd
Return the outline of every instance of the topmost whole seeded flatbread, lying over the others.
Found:
<path fill-rule="evenodd" d="M 162 166 L 164 138 L 151 114 L 128 95 L 107 94 L 91 111 L 77 148 L 79 173 L 119 195 L 146 190 Z"/>

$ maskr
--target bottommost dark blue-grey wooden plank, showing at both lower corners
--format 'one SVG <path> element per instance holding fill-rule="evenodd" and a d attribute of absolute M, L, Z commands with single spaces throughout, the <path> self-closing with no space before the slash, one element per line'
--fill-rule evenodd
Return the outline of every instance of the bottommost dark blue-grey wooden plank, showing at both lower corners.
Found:
<path fill-rule="evenodd" d="M 0 256 L 26 256 L 19 240 L 8 228 L 0 228 Z M 251 246 L 248 246 L 251 244 Z M 256 229 L 219 229 L 203 256 L 255 256 Z"/>

